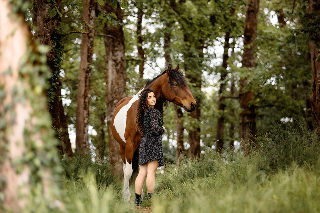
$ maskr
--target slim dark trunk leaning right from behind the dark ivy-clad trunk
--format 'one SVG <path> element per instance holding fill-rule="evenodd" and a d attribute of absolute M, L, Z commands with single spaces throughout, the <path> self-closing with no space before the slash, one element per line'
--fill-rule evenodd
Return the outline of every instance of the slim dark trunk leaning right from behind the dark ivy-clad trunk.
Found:
<path fill-rule="evenodd" d="M 59 82 L 59 88 L 58 88 L 59 97 L 61 97 L 60 88 L 61 88 L 61 82 Z M 71 141 L 69 138 L 67 118 L 66 118 L 66 115 L 64 114 L 64 108 L 62 105 L 62 99 L 60 99 L 59 101 L 59 108 L 60 108 L 60 123 L 61 123 L 60 135 L 61 135 L 61 142 L 62 142 L 62 150 L 64 155 L 71 158 L 73 156 L 73 152 L 71 148 Z"/>

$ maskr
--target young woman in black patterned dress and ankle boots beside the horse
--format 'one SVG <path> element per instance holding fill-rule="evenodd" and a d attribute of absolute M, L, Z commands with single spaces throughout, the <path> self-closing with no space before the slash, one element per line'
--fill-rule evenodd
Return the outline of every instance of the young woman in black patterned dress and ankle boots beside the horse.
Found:
<path fill-rule="evenodd" d="M 136 112 L 136 130 L 141 134 L 139 149 L 140 170 L 135 182 L 136 198 L 134 203 L 141 203 L 141 192 L 145 179 L 148 197 L 155 191 L 155 174 L 158 167 L 164 165 L 161 135 L 164 133 L 163 119 L 159 110 L 154 109 L 156 96 L 150 88 L 140 95 Z"/>

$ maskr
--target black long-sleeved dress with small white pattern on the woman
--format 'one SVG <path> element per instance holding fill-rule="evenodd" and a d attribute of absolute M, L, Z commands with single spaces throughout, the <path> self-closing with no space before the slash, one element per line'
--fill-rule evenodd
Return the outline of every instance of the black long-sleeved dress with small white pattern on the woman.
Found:
<path fill-rule="evenodd" d="M 143 136 L 139 149 L 139 165 L 157 160 L 158 167 L 164 166 L 161 135 L 164 133 L 162 127 L 163 119 L 160 111 L 147 108 L 143 116 Z"/>

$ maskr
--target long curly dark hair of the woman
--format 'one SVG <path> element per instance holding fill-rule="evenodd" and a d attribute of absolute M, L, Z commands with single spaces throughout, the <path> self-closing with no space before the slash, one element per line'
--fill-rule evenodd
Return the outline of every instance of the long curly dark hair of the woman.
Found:
<path fill-rule="evenodd" d="M 149 92 L 155 93 L 151 88 L 144 89 L 140 93 L 139 95 L 140 99 L 139 99 L 138 108 L 136 111 L 136 118 L 134 120 L 136 124 L 136 130 L 141 135 L 143 135 L 143 116 L 144 116 L 144 110 L 148 108 L 147 97 Z"/>

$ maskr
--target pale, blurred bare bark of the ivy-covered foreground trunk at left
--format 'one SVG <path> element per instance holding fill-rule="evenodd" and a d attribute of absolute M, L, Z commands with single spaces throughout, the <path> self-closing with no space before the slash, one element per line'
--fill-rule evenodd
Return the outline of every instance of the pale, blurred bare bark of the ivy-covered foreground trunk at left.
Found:
<path fill-rule="evenodd" d="M 4 201 L 0 201 L 1 210 L 10 209 L 19 212 L 26 205 L 26 201 L 20 198 L 22 187 L 29 190 L 28 181 L 30 169 L 24 167 L 22 172 L 17 173 L 13 162 L 23 158 L 26 151 L 23 141 L 23 131 L 29 114 L 32 112 L 29 101 L 26 104 L 14 104 L 12 96 L 14 87 L 23 87 L 19 81 L 20 58 L 27 51 L 28 27 L 23 22 L 16 22 L 17 17 L 9 18 L 12 11 L 7 1 L 0 1 L 0 88 L 4 90 L 5 96 L 0 98 L 0 119 L 6 127 L 0 129 L 0 179 L 1 192 L 4 193 Z M 20 17 L 20 20 L 23 17 Z M 12 33 L 13 32 L 13 33 Z M 12 74 L 5 74 L 8 69 Z M 13 105 L 10 111 L 6 111 L 5 106 Z M 13 114 L 15 118 L 13 117 Z M 10 131 L 14 134 L 10 133 Z M 8 150 L 5 149 L 8 148 Z M 5 181 L 4 181 L 5 180 Z M 3 209 L 4 208 L 4 209 Z"/>

